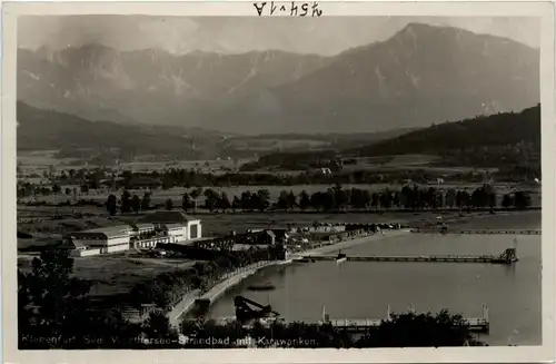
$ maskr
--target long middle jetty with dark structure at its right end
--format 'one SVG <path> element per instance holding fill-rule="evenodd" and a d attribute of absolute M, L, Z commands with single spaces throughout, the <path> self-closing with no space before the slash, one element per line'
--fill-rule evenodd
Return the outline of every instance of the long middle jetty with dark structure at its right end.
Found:
<path fill-rule="evenodd" d="M 335 255 L 308 255 L 307 259 L 312 260 L 337 260 Z M 518 260 L 516 248 L 508 248 L 503 254 L 496 255 L 428 255 L 428 256 L 345 256 L 347 262 L 423 262 L 423 263 L 490 263 L 490 264 L 514 264 Z"/>

